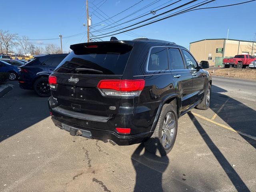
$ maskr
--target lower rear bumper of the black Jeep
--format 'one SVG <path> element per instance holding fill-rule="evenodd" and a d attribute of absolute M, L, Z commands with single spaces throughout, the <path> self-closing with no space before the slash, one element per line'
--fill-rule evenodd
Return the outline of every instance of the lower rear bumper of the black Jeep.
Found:
<path fill-rule="evenodd" d="M 118 145 L 132 145 L 136 143 L 141 143 L 146 141 L 147 138 L 150 138 L 152 134 L 152 132 L 144 132 L 144 133 L 140 133 L 132 136 L 120 136 L 116 132 L 113 132 L 110 130 L 102 130 L 102 129 L 96 129 L 96 128 L 89 128 L 85 126 L 79 126 L 76 124 L 72 124 L 70 122 L 65 122 L 56 117 L 52 117 L 52 121 L 54 122 L 55 126 L 59 127 L 60 129 L 63 129 L 62 124 L 64 124 L 64 125 L 68 125 L 75 128 L 76 131 L 77 130 L 90 131 L 91 133 L 90 138 L 96 139 L 96 140 L 102 140 L 104 142 L 106 142 L 107 140 L 112 140 Z"/>

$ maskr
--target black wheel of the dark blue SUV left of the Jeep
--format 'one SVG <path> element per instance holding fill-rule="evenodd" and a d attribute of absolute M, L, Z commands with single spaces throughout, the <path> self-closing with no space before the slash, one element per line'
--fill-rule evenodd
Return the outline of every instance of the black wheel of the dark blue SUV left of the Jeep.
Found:
<path fill-rule="evenodd" d="M 40 97 L 50 97 L 50 86 L 47 77 L 40 77 L 34 82 L 34 90 Z"/>

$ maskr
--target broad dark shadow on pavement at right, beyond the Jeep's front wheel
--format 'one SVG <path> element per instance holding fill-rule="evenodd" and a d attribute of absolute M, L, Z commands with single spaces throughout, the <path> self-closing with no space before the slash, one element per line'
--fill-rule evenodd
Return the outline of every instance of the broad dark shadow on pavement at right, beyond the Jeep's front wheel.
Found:
<path fill-rule="evenodd" d="M 212 92 L 210 109 L 215 113 L 227 101 L 220 112 L 218 112 L 216 119 L 221 118 L 228 126 L 236 130 L 244 140 L 256 148 L 256 140 L 246 136 L 247 134 L 256 138 L 256 111 L 238 100 L 220 94 L 227 92 L 222 88 L 212 85 L 212 90 L 214 92 Z"/>

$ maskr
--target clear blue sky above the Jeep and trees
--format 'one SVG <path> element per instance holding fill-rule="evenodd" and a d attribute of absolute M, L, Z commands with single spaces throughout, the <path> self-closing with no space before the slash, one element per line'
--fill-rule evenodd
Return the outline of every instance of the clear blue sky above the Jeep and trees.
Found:
<path fill-rule="evenodd" d="M 105 26 L 94 26 L 95 30 L 106 27 L 110 21 L 125 18 L 132 12 L 155 2 L 152 6 L 133 14 L 132 16 L 121 20 L 118 23 L 125 22 L 150 10 L 156 10 L 157 6 L 164 3 L 166 6 L 176 0 L 89 0 L 89 12 L 92 15 L 92 24 L 104 24 Z M 202 2 L 199 0 L 198 2 Z M 234 4 L 244 2 L 246 0 L 216 0 L 203 7 L 220 6 L 225 4 Z M 140 3 L 138 3 L 140 2 Z M 179 6 L 188 2 L 182 0 L 164 10 L 156 12 L 160 14 L 166 10 Z M 138 3 L 138 4 L 136 4 Z M 98 4 L 98 6 L 94 6 Z M 103 22 L 105 18 L 114 16 L 115 14 L 125 10 L 126 8 L 136 4 L 129 10 L 119 14 Z M 101 6 L 100 6 L 101 5 Z M 100 6 L 100 7 L 99 7 Z M 162 7 L 162 6 L 161 6 Z M 253 40 L 256 33 L 255 22 L 256 2 L 232 6 L 227 8 L 206 9 L 194 12 L 188 12 L 179 16 L 175 16 L 154 24 L 132 30 L 131 33 L 122 33 L 115 35 L 119 40 L 129 40 L 140 36 L 161 40 L 176 42 L 186 48 L 189 43 L 205 38 L 226 38 L 229 28 L 230 39 Z M 1 21 L 0 29 L 10 30 L 12 33 L 18 33 L 19 36 L 25 35 L 30 39 L 47 39 L 58 38 L 59 33 L 65 36 L 80 34 L 71 38 L 63 38 L 63 50 L 68 51 L 70 44 L 76 44 L 86 41 L 86 23 L 85 0 L 12 0 L 1 2 Z M 97 9 L 98 8 L 98 9 Z M 96 11 L 94 11 L 96 9 Z M 104 12 L 104 13 L 102 13 Z M 171 12 L 172 13 L 172 12 Z M 148 17 L 153 16 L 150 14 Z M 104 18 L 105 17 L 105 18 Z M 130 22 L 133 24 L 136 21 Z M 126 26 L 130 23 L 123 24 Z M 116 24 L 115 24 L 116 25 Z M 111 32 L 111 29 L 107 32 Z M 93 31 L 93 30 L 92 30 Z M 103 32 L 105 33 L 105 32 Z M 93 32 L 94 35 L 98 33 Z M 109 40 L 110 38 L 102 38 Z M 60 40 L 37 40 L 31 41 L 36 46 L 44 46 L 45 44 L 56 44 L 60 46 Z"/>

